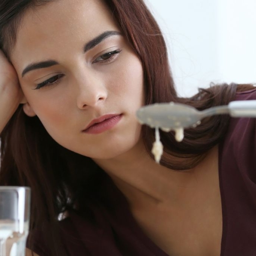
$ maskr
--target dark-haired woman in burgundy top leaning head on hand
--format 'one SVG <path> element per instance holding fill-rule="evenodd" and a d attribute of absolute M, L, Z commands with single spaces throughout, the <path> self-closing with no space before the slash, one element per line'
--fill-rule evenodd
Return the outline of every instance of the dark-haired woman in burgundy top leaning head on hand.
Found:
<path fill-rule="evenodd" d="M 0 27 L 0 184 L 32 188 L 29 249 L 255 255 L 255 164 L 237 154 L 255 153 L 255 121 L 213 116 L 181 143 L 161 132 L 158 165 L 154 130 L 135 118 L 154 102 L 202 110 L 253 99 L 254 87 L 179 98 L 142 0 L 2 0 Z"/>

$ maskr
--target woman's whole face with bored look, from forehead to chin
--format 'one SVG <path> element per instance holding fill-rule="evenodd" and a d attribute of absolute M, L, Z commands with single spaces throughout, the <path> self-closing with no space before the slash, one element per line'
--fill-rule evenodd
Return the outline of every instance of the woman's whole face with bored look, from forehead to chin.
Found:
<path fill-rule="evenodd" d="M 117 157 L 140 138 L 143 69 L 120 32 L 102 1 L 58 0 L 26 12 L 11 52 L 25 113 L 95 159 Z"/>

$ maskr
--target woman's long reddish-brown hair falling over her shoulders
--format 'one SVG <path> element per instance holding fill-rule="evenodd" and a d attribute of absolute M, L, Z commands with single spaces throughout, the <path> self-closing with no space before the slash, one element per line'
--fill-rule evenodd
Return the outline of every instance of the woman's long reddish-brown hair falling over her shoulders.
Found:
<path fill-rule="evenodd" d="M 32 6 L 50 1 L 52 0 L 1 0 L 0 47 L 7 56 L 15 45 L 17 29 L 24 12 Z M 165 41 L 143 0 L 105 2 L 143 64 L 146 105 L 173 101 L 203 110 L 225 105 L 234 99 L 237 90 L 252 88 L 250 85 L 213 85 L 209 89 L 200 89 L 191 98 L 178 97 L 169 68 Z M 206 152 L 222 140 L 227 131 L 227 120 L 227 116 L 212 116 L 198 128 L 187 129 L 181 143 L 175 141 L 172 132 L 161 132 L 165 150 L 161 164 L 173 170 L 186 170 L 196 166 Z M 143 126 L 142 136 L 145 148 L 151 155 L 154 130 Z M 103 171 L 90 158 L 58 145 L 38 117 L 26 116 L 22 106 L 19 106 L 6 125 L 0 139 L 0 185 L 31 187 L 31 229 L 45 229 L 42 236 L 45 236 L 51 255 L 67 255 L 58 235 L 58 215 L 73 208 L 75 204 L 85 204 L 85 198 L 90 197 Z M 173 161 L 174 157 L 177 161 Z M 32 244 L 32 240 L 30 242 Z"/>

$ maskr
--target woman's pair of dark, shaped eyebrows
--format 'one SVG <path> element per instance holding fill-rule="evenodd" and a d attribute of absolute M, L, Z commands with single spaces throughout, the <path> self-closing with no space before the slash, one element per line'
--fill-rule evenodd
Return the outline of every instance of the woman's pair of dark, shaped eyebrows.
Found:
<path fill-rule="evenodd" d="M 103 32 L 102 34 L 96 36 L 96 38 L 93 38 L 92 40 L 90 40 L 84 45 L 84 53 L 89 51 L 93 47 L 96 47 L 97 44 L 101 43 L 103 40 L 113 35 L 122 35 L 122 33 L 118 31 Z M 58 61 L 55 61 L 55 60 L 47 60 L 47 61 L 31 63 L 24 68 L 24 70 L 21 73 L 21 77 L 25 76 L 25 74 L 28 73 L 29 71 L 46 68 L 46 67 L 52 67 L 58 64 L 59 64 Z"/>

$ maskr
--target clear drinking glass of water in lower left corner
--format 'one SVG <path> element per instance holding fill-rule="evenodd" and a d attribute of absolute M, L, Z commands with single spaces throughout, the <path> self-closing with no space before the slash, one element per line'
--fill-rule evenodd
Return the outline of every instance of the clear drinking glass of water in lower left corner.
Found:
<path fill-rule="evenodd" d="M 30 188 L 0 186 L 0 256 L 25 256 Z"/>

